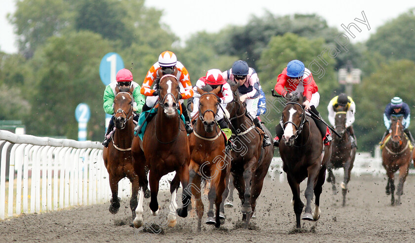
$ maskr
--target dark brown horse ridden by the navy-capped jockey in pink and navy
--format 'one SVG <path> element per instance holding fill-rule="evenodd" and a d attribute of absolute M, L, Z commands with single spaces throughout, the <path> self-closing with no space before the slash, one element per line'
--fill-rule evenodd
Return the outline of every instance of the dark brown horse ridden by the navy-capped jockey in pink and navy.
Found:
<path fill-rule="evenodd" d="M 230 128 L 235 144 L 231 153 L 231 173 L 242 203 L 244 228 L 247 229 L 249 220 L 255 211 L 256 199 L 262 191 L 264 178 L 274 155 L 274 146 L 262 147 L 263 133 L 267 133 L 268 137 L 271 136 L 271 133 L 265 127 L 266 131 L 260 131 L 247 116 L 246 104 L 241 102 L 238 92 L 239 82 L 235 84 L 233 81 L 229 81 L 229 83 L 234 96 L 233 101 L 226 107 L 230 114 Z M 223 214 L 224 201 L 228 193 L 227 186 L 220 209 Z"/>

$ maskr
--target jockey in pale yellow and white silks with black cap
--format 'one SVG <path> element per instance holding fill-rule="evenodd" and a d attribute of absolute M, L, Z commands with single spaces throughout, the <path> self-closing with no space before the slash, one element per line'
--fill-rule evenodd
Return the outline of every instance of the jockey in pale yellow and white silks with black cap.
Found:
<path fill-rule="evenodd" d="M 329 122 L 334 127 L 335 112 L 339 111 L 339 109 L 343 108 L 344 106 L 346 107 L 346 130 L 350 134 L 352 148 L 357 147 L 356 137 L 354 135 L 354 130 L 352 126 L 353 122 L 355 121 L 356 104 L 350 96 L 341 93 L 329 102 L 329 105 L 327 106 L 327 110 L 329 111 Z"/>

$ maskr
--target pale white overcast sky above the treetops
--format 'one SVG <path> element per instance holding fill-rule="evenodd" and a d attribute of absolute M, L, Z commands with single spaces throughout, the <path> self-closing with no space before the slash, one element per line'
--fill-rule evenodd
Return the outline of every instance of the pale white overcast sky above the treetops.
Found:
<path fill-rule="evenodd" d="M 0 50 L 6 53 L 17 51 L 16 37 L 6 20 L 6 14 L 15 9 L 14 2 L 0 0 Z M 146 0 L 145 4 L 163 10 L 162 22 L 182 40 L 199 31 L 214 33 L 227 25 L 245 25 L 251 15 L 262 16 L 268 10 L 276 15 L 317 13 L 338 30 L 343 30 L 341 24 L 353 22 L 362 30 L 352 28 L 354 42 L 365 41 L 379 26 L 415 7 L 414 0 Z M 362 11 L 370 30 L 354 20 L 364 20 Z"/>

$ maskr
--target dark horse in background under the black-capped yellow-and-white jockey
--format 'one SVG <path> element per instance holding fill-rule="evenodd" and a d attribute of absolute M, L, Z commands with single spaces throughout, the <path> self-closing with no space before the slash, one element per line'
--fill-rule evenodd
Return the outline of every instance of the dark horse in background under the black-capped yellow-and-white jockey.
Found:
<path fill-rule="evenodd" d="M 341 107 L 341 106 L 340 106 Z M 343 207 L 346 206 L 347 183 L 350 180 L 350 172 L 353 168 L 353 163 L 356 157 L 356 147 L 352 148 L 352 141 L 349 138 L 349 133 L 346 130 L 346 107 L 344 110 L 337 111 L 334 115 L 334 129 L 341 136 L 341 138 L 334 136 L 332 141 L 332 156 L 327 164 L 327 182 L 332 182 L 333 195 L 336 194 L 337 188 L 335 186 L 336 179 L 332 172 L 333 169 L 343 168 L 344 178 L 340 187 L 343 194 Z"/>

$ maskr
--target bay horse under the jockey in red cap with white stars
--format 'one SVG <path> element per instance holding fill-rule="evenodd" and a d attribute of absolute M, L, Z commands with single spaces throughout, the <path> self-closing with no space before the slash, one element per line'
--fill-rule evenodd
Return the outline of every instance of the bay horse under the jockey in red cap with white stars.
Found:
<path fill-rule="evenodd" d="M 222 194 L 225 190 L 225 178 L 230 169 L 230 153 L 226 153 L 226 138 L 220 131 L 215 116 L 218 112 L 218 97 L 220 87 L 212 89 L 210 86 L 198 88 L 201 95 L 199 100 L 199 117 L 196 120 L 195 129 L 189 136 L 191 159 L 189 166 L 189 185 L 192 185 L 192 193 L 196 199 L 196 211 L 198 215 L 198 231 L 201 231 L 204 205 L 201 198 L 201 180 L 210 181 L 210 189 L 207 194 L 209 210 L 206 224 L 220 226 L 219 212 L 222 203 Z M 213 203 L 216 212 L 213 213 Z"/>

